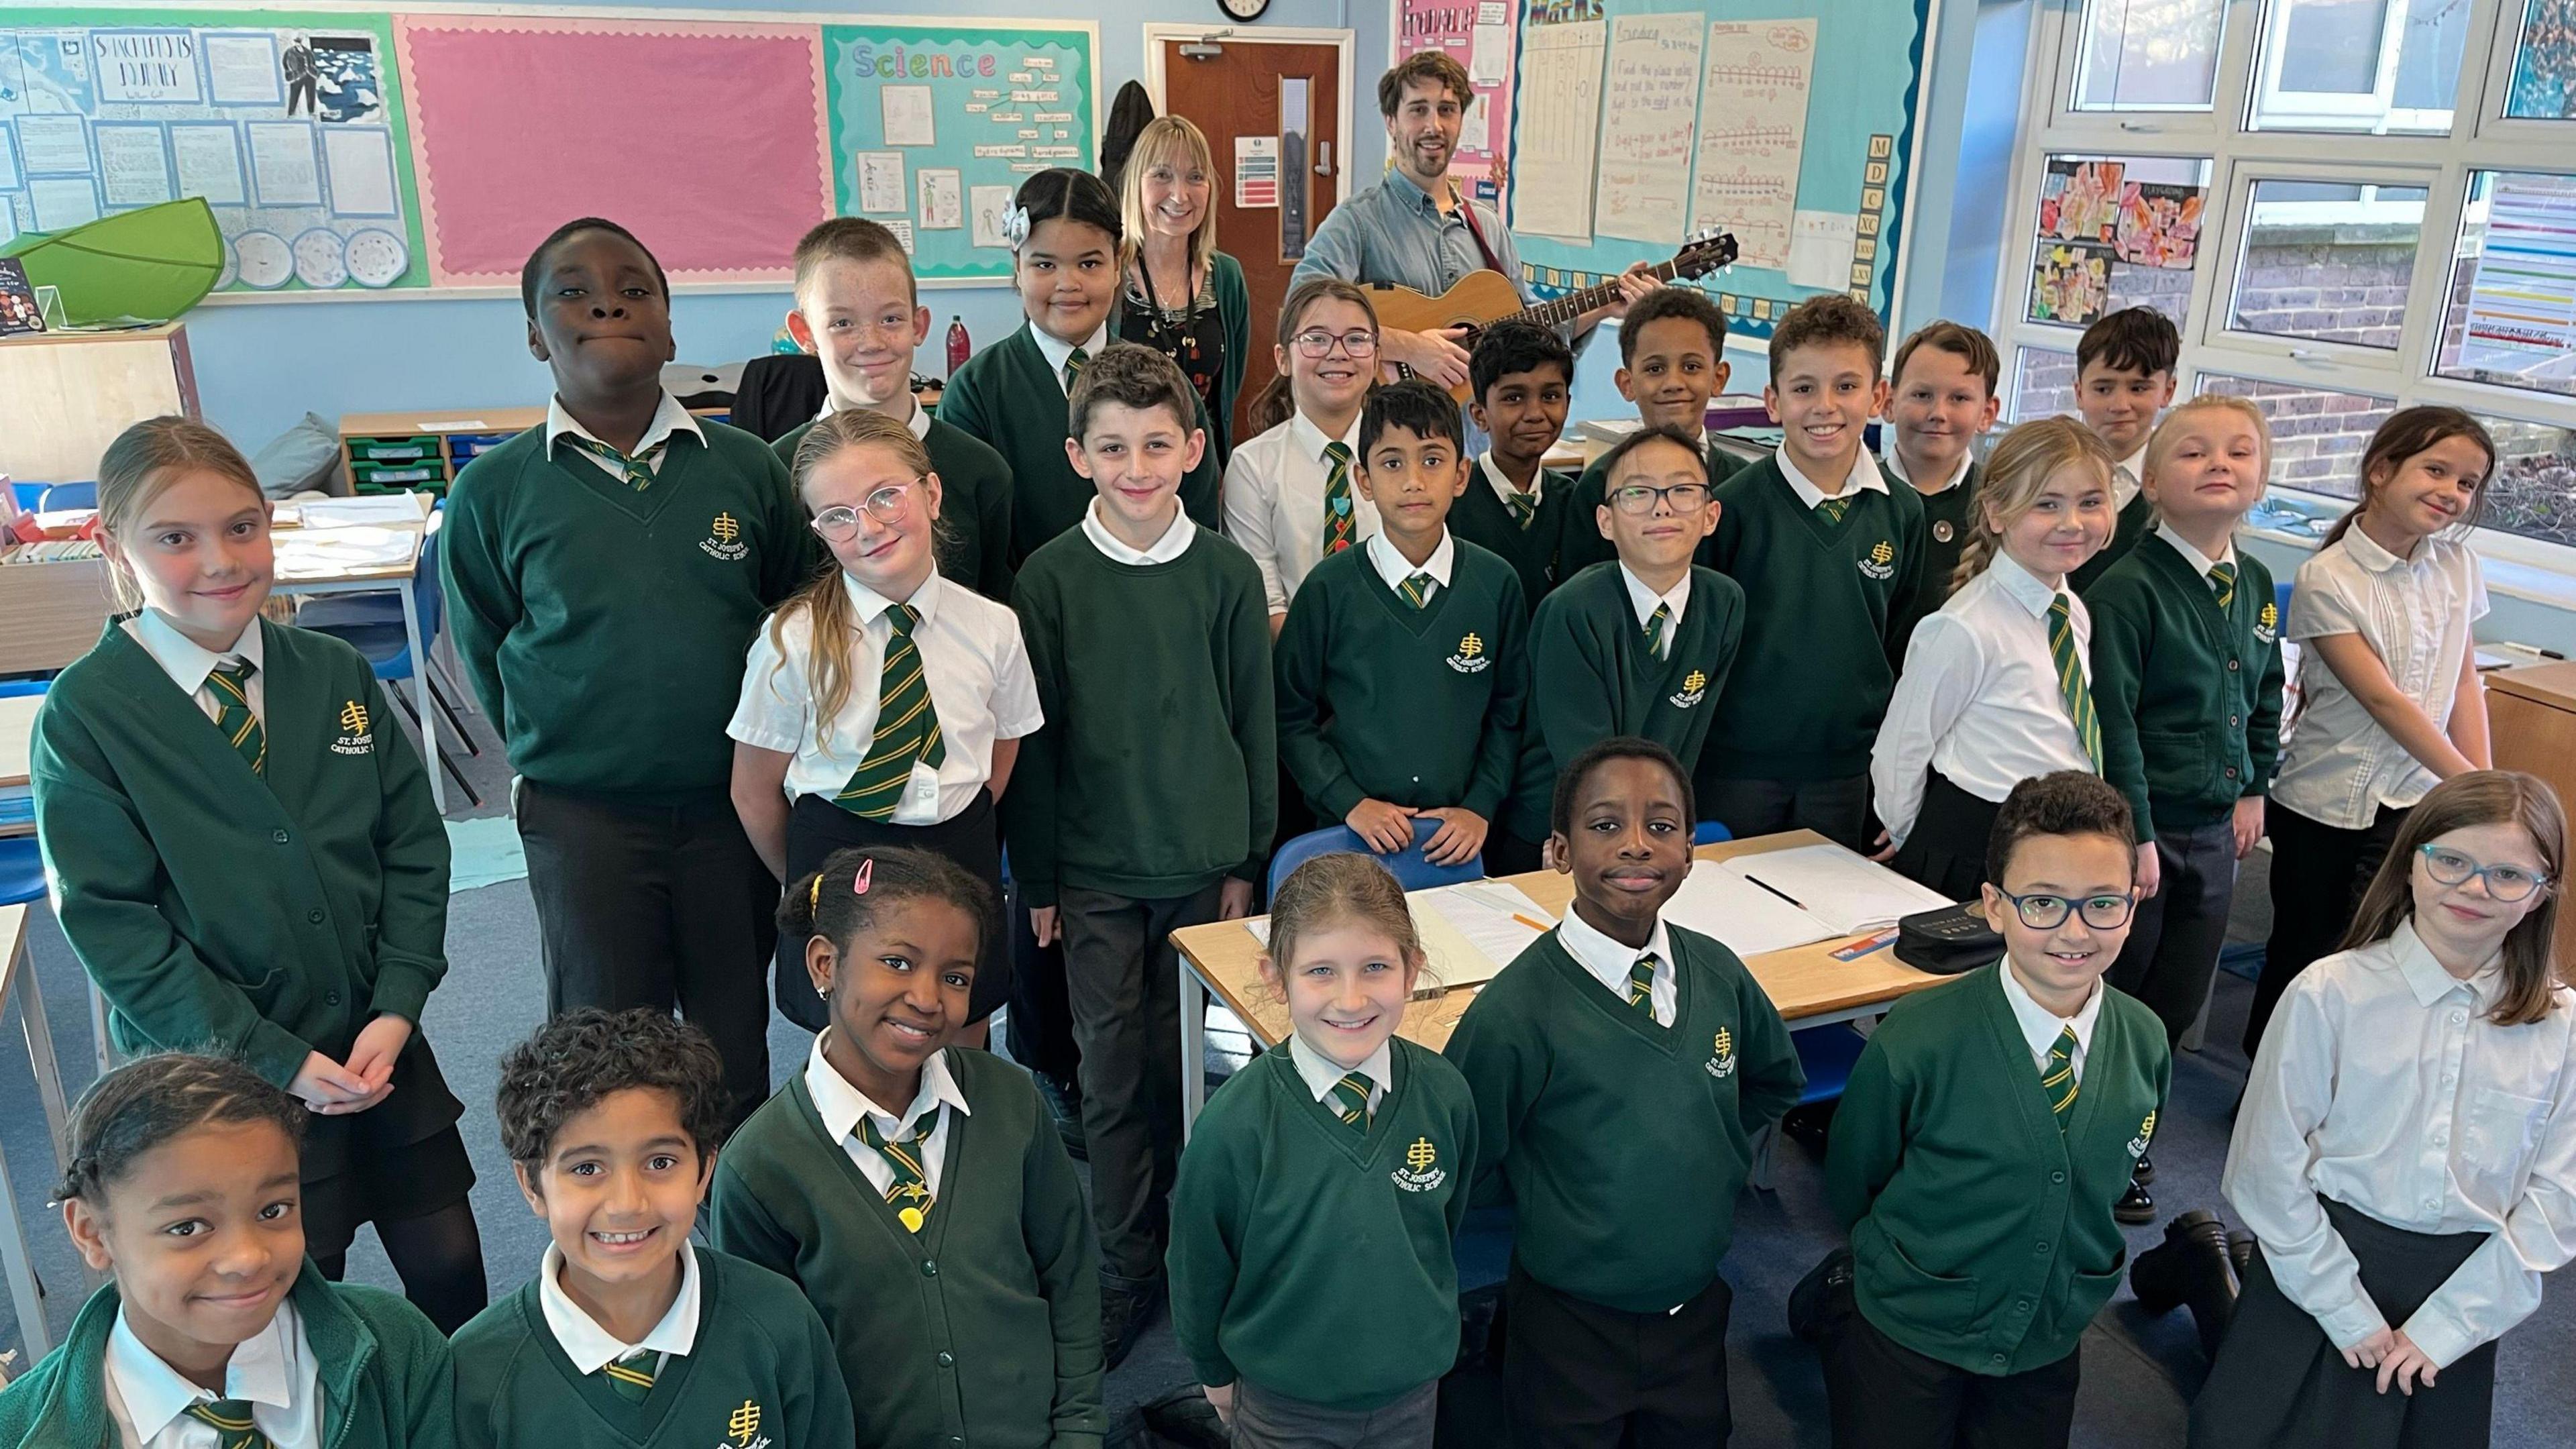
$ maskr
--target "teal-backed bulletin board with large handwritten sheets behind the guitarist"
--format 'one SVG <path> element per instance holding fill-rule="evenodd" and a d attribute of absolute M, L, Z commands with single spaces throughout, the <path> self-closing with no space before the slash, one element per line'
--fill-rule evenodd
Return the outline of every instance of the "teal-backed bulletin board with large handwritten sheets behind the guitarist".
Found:
<path fill-rule="evenodd" d="M 1592 286 L 1716 229 L 1741 260 L 1703 286 L 1739 338 L 1819 291 L 1893 317 L 1937 13 L 1515 0 L 1507 217 L 1525 278 Z"/>

